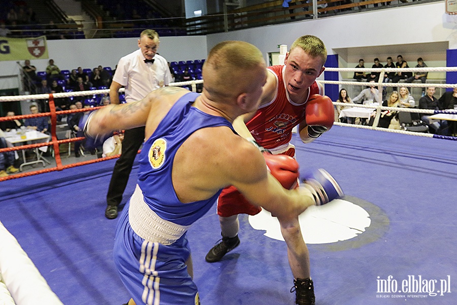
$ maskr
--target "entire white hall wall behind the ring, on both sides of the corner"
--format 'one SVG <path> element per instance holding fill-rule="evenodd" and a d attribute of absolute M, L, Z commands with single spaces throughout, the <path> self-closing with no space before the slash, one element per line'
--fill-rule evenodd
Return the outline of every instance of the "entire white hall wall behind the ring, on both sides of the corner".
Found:
<path fill-rule="evenodd" d="M 228 33 L 208 36 L 162 37 L 159 53 L 170 62 L 206 58 L 208 51 L 224 40 L 244 40 L 257 46 L 268 59 L 269 52 L 279 51 L 279 44 L 290 44 L 299 36 L 310 34 L 322 39 L 329 54 L 334 50 L 367 46 L 389 46 L 389 55 L 396 57 L 407 44 L 448 42 L 450 49 L 457 49 L 457 16 L 444 13 L 443 2 L 426 3 L 392 9 L 378 9 L 370 12 L 354 13 L 327 17 L 316 20 L 304 20 L 278 25 L 242 29 Z M 407 20 L 399 24 L 395 20 Z M 78 66 L 92 68 L 98 65 L 113 67 L 123 55 L 137 48 L 136 38 L 52 40 L 48 41 L 49 56 L 60 69 L 74 69 Z M 384 48 L 385 49 L 385 48 Z M 352 50 L 353 51 L 353 50 Z M 403 51 L 401 51 L 403 52 Z M 416 58 L 421 54 L 411 52 L 408 58 L 410 66 L 415 66 Z M 445 52 L 445 50 L 442 50 Z M 371 54 L 369 54 L 371 56 Z M 364 57 L 364 54 L 361 54 Z M 379 54 L 381 60 L 384 56 Z M 442 59 L 439 59 L 438 62 Z M 371 67 L 372 58 L 365 58 Z M 429 66 L 433 59 L 425 58 Z M 39 71 L 47 66 L 47 60 L 32 60 Z M 348 59 L 348 67 L 357 62 Z M 21 62 L 22 64 L 22 62 Z M 17 87 L 17 79 L 6 80 L 5 76 L 17 73 L 15 62 L 0 62 L 0 89 Z M 367 65 L 368 66 L 368 65 Z M 15 85 L 10 86 L 11 83 Z"/>

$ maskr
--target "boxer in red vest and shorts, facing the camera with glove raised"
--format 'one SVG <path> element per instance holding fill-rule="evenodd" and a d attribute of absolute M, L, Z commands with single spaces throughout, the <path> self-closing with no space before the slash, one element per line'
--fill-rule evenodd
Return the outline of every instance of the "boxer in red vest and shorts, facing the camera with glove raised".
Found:
<path fill-rule="evenodd" d="M 325 60 L 327 50 L 319 38 L 307 35 L 293 42 L 284 65 L 267 68 L 267 82 L 258 109 L 234 121 L 238 134 L 258 145 L 261 150 L 293 157 L 295 147 L 290 144 L 293 127 L 298 126 L 304 143 L 313 141 L 329 130 L 334 122 L 334 107 L 330 98 L 322 96 L 323 89 L 316 82 L 325 69 Z M 327 174 L 325 172 L 323 176 Z M 330 176 L 323 184 L 331 180 L 333 178 Z M 337 184 L 335 189 L 337 197 L 342 196 Z M 327 203 L 328 199 L 322 199 L 322 204 Z M 258 206 L 250 204 L 234 187 L 224 189 L 217 204 L 222 240 L 208 252 L 206 260 L 219 261 L 240 244 L 238 214 L 255 215 L 259 211 Z M 281 223 L 281 233 L 286 241 L 294 277 L 296 303 L 314 304 L 309 252 L 298 217 L 294 221 Z"/>

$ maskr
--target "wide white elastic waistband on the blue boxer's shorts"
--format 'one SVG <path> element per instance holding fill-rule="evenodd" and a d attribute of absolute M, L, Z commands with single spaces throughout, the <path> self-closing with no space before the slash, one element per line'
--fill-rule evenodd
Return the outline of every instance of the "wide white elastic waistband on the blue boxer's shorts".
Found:
<path fill-rule="evenodd" d="M 144 201 L 143 192 L 138 185 L 130 198 L 128 221 L 138 236 L 162 245 L 171 245 L 190 227 L 161 219 Z"/>

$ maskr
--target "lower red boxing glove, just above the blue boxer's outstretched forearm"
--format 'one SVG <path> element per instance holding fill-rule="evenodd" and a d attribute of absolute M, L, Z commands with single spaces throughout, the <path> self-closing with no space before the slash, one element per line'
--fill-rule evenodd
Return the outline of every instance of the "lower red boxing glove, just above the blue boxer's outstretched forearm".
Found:
<path fill-rule="evenodd" d="M 271 174 L 283 188 L 294 189 L 298 184 L 299 164 L 297 160 L 287 155 L 271 155 L 264 153 L 265 161 Z"/>

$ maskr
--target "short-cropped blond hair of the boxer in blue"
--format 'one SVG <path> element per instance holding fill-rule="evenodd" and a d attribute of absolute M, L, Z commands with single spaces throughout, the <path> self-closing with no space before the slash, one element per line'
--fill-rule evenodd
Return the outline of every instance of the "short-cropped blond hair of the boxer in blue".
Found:
<path fill-rule="evenodd" d="M 204 90 L 212 99 L 237 97 L 251 89 L 250 78 L 265 59 L 255 46 L 243 41 L 224 41 L 211 49 L 203 65 Z"/>

